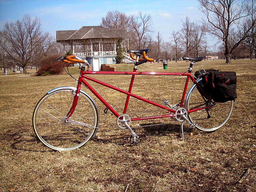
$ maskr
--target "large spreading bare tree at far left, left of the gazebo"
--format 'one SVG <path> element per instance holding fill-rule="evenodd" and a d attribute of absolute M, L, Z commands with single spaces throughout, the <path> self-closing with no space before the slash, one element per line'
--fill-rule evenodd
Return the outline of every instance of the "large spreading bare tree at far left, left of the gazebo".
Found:
<path fill-rule="evenodd" d="M 6 22 L 1 33 L 4 41 L 1 41 L 0 48 L 6 52 L 6 57 L 10 61 L 23 68 L 23 73 L 26 73 L 26 67 L 31 59 L 41 51 L 40 20 L 24 15 L 21 21 Z"/>

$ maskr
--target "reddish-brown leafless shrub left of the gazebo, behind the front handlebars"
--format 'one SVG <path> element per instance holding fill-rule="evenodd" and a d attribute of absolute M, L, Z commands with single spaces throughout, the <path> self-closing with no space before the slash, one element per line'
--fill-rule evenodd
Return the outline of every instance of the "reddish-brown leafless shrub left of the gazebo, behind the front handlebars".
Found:
<path fill-rule="evenodd" d="M 55 61 L 60 57 L 59 54 L 49 55 L 45 58 L 42 58 L 39 62 L 40 69 L 37 71 L 37 76 L 46 76 L 46 75 L 59 75 L 63 71 L 63 62 Z"/>

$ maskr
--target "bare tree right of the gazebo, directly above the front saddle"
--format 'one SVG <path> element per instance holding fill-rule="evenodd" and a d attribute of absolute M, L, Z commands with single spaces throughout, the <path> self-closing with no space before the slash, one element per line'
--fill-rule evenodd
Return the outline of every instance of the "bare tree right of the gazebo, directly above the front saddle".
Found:
<path fill-rule="evenodd" d="M 136 49 L 145 48 L 146 44 L 150 40 L 150 35 L 153 32 L 151 27 L 152 19 L 151 15 L 142 15 L 139 12 L 138 16 L 132 15 L 129 22 L 129 32 L 131 34 L 132 41 Z"/>

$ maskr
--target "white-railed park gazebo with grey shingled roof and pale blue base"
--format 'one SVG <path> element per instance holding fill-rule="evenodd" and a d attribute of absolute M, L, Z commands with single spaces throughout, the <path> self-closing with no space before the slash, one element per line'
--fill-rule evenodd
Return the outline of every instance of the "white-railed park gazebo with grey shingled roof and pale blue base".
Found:
<path fill-rule="evenodd" d="M 71 46 L 71 52 L 88 60 L 93 71 L 100 71 L 102 64 L 116 63 L 116 45 L 118 41 L 122 44 L 123 40 L 128 38 L 126 29 L 106 29 L 101 26 L 56 31 L 56 42 L 63 44 L 64 52 L 67 46 Z M 124 55 L 126 54 L 124 52 Z M 127 59 L 125 61 L 129 62 Z"/>

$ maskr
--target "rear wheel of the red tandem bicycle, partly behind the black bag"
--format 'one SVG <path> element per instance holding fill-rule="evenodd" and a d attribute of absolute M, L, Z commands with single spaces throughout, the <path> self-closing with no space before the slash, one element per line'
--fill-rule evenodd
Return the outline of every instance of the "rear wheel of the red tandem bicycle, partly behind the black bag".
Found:
<path fill-rule="evenodd" d="M 198 81 L 198 84 L 202 84 L 200 80 Z M 197 129 L 204 132 L 213 132 L 227 123 L 232 113 L 233 105 L 233 100 L 225 103 L 216 103 L 216 105 L 211 108 L 188 113 L 188 119 L 192 123 L 197 124 Z M 194 84 L 188 91 L 185 106 L 187 110 L 209 106 L 209 103 L 205 101 L 199 93 L 196 84 Z"/>

